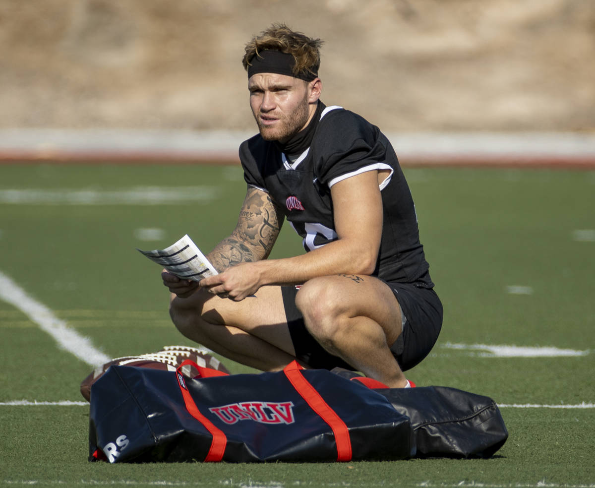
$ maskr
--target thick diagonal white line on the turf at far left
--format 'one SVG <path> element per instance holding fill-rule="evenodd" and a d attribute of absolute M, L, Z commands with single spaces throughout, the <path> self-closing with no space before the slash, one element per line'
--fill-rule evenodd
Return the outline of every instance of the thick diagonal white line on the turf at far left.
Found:
<path fill-rule="evenodd" d="M 87 337 L 82 337 L 76 330 L 70 329 L 64 320 L 60 320 L 48 307 L 27 295 L 2 271 L 0 271 L 0 299 L 20 309 L 40 329 L 54 337 L 61 348 L 71 352 L 81 361 L 91 366 L 110 361 L 111 358 L 95 349 Z"/>

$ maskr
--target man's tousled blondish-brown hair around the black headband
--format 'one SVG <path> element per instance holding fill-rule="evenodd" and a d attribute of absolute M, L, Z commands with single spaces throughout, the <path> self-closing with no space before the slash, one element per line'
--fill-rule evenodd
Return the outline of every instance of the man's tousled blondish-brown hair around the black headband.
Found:
<path fill-rule="evenodd" d="M 318 76 L 320 68 L 320 47 L 323 41 L 312 39 L 301 32 L 295 32 L 285 24 L 273 24 L 246 43 L 242 58 L 244 69 L 248 71 L 250 61 L 261 51 L 280 51 L 291 54 L 295 60 L 294 74 L 307 71 Z"/>

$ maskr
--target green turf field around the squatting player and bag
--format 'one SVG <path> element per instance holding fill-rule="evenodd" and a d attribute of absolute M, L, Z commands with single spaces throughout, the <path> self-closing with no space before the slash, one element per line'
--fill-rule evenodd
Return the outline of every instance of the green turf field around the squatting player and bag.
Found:
<path fill-rule="evenodd" d="M 208 251 L 236 222 L 242 172 L 0 165 L 0 484 L 595 487 L 595 171 L 405 173 L 445 310 L 433 354 L 408 377 L 502 405 L 510 436 L 493 458 L 87 462 L 88 407 L 56 402 L 82 401 L 79 384 L 91 367 L 10 303 L 10 284 L 109 357 L 189 344 L 170 324 L 159 267 L 134 248 L 188 233 Z M 299 239 L 286 226 L 273 257 L 297 252 Z"/>

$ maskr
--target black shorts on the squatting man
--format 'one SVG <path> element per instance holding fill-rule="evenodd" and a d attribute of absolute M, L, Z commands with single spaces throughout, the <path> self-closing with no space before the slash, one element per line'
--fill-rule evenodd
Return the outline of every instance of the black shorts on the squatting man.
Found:
<path fill-rule="evenodd" d="M 415 283 L 385 283 L 393 290 L 403 315 L 403 331 L 390 350 L 401 370 L 410 370 L 430 353 L 438 339 L 442 327 L 442 304 L 433 289 L 416 286 Z M 308 332 L 302 314 L 295 305 L 297 291 L 296 286 L 281 287 L 296 357 L 312 368 L 353 370 L 343 359 L 325 351 Z"/>

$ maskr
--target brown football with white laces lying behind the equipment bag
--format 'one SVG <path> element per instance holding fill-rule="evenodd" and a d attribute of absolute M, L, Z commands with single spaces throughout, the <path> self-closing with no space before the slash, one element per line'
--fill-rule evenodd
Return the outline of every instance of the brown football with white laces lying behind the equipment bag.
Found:
<path fill-rule="evenodd" d="M 96 367 L 80 384 L 80 393 L 87 402 L 90 401 L 91 385 L 101 378 L 105 371 L 112 365 L 176 371 L 177 367 L 186 359 L 196 362 L 196 364 L 203 368 L 211 368 L 212 370 L 229 374 L 229 370 L 221 364 L 219 359 L 212 356 L 211 351 L 208 349 L 192 348 L 190 346 L 164 346 L 161 351 L 141 354 L 139 356 L 123 356 Z"/>

